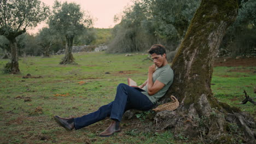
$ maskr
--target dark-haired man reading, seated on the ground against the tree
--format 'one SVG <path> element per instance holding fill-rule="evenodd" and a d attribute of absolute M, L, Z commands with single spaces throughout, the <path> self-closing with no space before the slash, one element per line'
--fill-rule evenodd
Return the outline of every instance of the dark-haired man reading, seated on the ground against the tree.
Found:
<path fill-rule="evenodd" d="M 54 116 L 55 121 L 67 130 L 80 129 L 90 124 L 101 121 L 106 117 L 112 119 L 109 127 L 100 133 L 100 136 L 110 136 L 121 131 L 119 123 L 126 110 L 150 110 L 166 93 L 173 81 L 173 70 L 168 65 L 166 51 L 163 45 L 153 45 L 149 54 L 154 64 L 148 68 L 148 79 L 140 88 L 146 92 L 139 92 L 137 89 L 124 83 L 117 87 L 115 100 L 107 105 L 101 106 L 97 111 L 77 118 L 61 118 Z"/>

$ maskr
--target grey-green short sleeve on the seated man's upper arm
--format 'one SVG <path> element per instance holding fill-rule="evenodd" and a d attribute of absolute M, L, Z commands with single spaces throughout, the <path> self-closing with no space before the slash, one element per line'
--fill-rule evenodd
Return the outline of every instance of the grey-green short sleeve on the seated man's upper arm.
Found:
<path fill-rule="evenodd" d="M 168 82 L 173 80 L 173 71 L 171 68 L 164 69 L 160 72 L 159 77 L 156 79 L 165 85 L 167 85 Z"/>

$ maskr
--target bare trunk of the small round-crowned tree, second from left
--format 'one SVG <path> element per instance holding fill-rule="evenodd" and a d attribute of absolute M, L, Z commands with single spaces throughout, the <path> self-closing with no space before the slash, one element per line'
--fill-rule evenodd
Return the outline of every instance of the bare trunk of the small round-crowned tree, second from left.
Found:
<path fill-rule="evenodd" d="M 72 55 L 73 39 L 74 36 L 66 36 L 65 57 L 63 57 L 60 64 L 77 64 L 74 62 L 74 57 Z"/>

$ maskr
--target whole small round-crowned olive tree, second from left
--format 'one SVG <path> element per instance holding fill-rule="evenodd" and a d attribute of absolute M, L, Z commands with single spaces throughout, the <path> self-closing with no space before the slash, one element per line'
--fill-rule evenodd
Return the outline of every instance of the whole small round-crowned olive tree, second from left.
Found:
<path fill-rule="evenodd" d="M 74 37 L 92 26 L 91 17 L 85 15 L 79 4 L 55 1 L 53 15 L 49 18 L 49 26 L 66 38 L 65 57 L 60 64 L 75 64 L 72 55 Z"/>

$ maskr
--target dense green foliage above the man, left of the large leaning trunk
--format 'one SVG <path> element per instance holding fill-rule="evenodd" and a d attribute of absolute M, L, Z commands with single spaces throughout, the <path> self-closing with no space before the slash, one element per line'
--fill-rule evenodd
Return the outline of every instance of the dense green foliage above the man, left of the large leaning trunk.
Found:
<path fill-rule="evenodd" d="M 187 31 L 200 1 L 135 1 L 113 28 L 108 52 L 146 51 L 155 43 L 173 51 Z M 115 17 L 118 19 L 118 17 Z"/>

